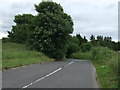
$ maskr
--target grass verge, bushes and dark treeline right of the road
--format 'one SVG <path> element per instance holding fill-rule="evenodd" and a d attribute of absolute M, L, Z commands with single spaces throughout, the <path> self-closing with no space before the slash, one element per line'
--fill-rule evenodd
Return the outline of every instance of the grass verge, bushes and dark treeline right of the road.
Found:
<path fill-rule="evenodd" d="M 73 41 L 72 41 L 73 40 Z M 73 36 L 71 43 L 78 47 L 70 47 L 68 58 L 91 60 L 94 64 L 101 88 L 118 88 L 120 74 L 118 71 L 118 52 L 120 51 L 120 42 L 112 41 L 111 37 L 90 36 L 88 42 L 80 34 Z M 77 42 L 77 43 L 76 43 Z"/>

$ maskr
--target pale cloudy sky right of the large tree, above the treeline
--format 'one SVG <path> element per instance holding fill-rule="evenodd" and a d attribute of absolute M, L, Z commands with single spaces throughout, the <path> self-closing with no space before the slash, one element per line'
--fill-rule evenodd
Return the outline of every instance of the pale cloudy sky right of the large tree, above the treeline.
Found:
<path fill-rule="evenodd" d="M 81 33 L 82 36 L 89 37 L 90 34 L 101 34 L 118 40 L 118 5 L 116 2 L 69 2 L 64 4 L 64 9 L 74 20 L 73 35 Z"/>

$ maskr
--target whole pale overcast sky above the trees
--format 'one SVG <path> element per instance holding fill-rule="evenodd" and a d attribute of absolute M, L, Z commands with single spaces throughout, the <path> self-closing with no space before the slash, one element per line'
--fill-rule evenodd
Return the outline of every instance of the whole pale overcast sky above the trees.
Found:
<path fill-rule="evenodd" d="M 42 0 L 1 0 L 0 1 L 0 38 L 7 36 L 14 16 L 30 13 L 36 15 L 34 4 Z M 74 32 L 88 39 L 91 34 L 111 36 L 118 40 L 118 0 L 52 0 L 60 3 L 64 12 L 74 21 Z"/>

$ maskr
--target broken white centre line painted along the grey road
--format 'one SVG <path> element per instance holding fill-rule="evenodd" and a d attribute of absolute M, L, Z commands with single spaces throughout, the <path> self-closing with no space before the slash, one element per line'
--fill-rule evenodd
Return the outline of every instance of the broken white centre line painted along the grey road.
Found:
<path fill-rule="evenodd" d="M 73 63 L 73 61 L 72 61 L 72 62 L 70 62 L 70 63 L 68 63 L 67 65 L 65 65 L 65 67 L 66 67 L 66 66 L 68 66 L 68 65 L 70 65 L 70 64 L 72 64 L 72 63 Z M 33 84 L 35 84 L 35 83 L 37 83 L 37 82 L 39 82 L 39 81 L 41 81 L 41 80 L 45 79 L 46 77 L 51 76 L 52 74 L 54 74 L 54 73 L 56 73 L 56 72 L 60 71 L 61 69 L 62 69 L 62 68 L 59 68 L 59 69 L 57 69 L 57 70 L 55 70 L 55 71 L 53 71 L 53 72 L 49 73 L 48 75 L 45 75 L 45 76 L 41 77 L 40 79 L 38 79 L 38 80 L 36 80 L 36 81 L 34 81 L 34 82 L 32 82 L 32 83 L 30 83 L 30 84 L 28 84 L 28 85 L 26 85 L 26 86 L 22 87 L 22 89 L 27 88 L 27 87 L 29 87 L 29 86 L 31 86 L 31 85 L 33 85 Z"/>

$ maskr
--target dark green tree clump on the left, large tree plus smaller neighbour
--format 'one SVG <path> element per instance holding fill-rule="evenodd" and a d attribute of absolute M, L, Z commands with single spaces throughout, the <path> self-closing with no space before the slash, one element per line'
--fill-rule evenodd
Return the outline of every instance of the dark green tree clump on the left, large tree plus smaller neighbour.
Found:
<path fill-rule="evenodd" d="M 73 32 L 72 18 L 55 2 L 41 2 L 35 5 L 35 10 L 38 12 L 36 16 L 16 15 L 16 25 L 8 32 L 8 37 L 13 42 L 27 43 L 31 49 L 51 58 L 63 59 Z"/>

